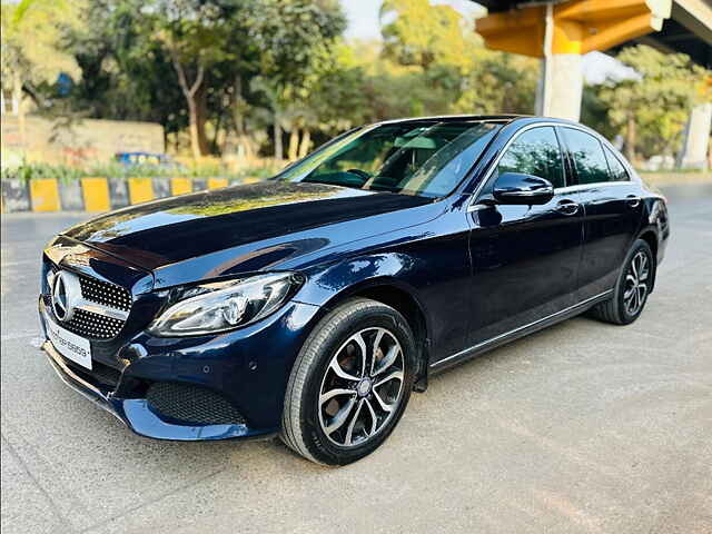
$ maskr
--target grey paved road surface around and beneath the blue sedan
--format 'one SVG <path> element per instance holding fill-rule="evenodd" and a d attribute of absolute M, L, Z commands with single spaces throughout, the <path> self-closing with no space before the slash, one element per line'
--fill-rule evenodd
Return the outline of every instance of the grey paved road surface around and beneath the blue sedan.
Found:
<path fill-rule="evenodd" d="M 666 192 L 637 323 L 575 318 L 443 374 L 340 469 L 140 438 L 69 390 L 32 346 L 34 294 L 80 217 L 3 217 L 2 533 L 711 533 L 712 186 Z"/>

